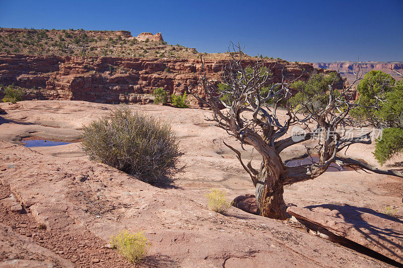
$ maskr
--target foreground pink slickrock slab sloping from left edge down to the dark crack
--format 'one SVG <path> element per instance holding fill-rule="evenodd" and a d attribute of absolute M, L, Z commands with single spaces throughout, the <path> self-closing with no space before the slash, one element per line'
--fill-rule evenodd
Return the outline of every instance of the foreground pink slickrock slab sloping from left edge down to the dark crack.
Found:
<path fill-rule="evenodd" d="M 386 266 L 275 220 L 235 208 L 228 216 L 212 213 L 203 195 L 193 191 L 155 188 L 104 164 L 43 155 L 0 140 L 1 159 L 7 151 L 21 160 L 0 180 L 23 203 L 33 203 L 30 213 L 52 232 L 87 229 L 108 241 L 122 229 L 143 229 L 152 242 L 150 256 L 185 267 Z M 91 179 L 76 183 L 78 173 Z"/>

